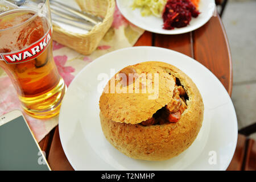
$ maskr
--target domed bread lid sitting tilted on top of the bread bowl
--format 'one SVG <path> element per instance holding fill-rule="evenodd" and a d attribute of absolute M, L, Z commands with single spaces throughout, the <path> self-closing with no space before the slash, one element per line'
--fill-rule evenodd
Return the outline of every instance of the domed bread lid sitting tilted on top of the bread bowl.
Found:
<path fill-rule="evenodd" d="M 170 102 L 175 81 L 172 76 L 159 65 L 155 65 L 154 62 L 135 64 L 129 67 L 134 68 L 138 74 L 151 73 L 152 81 L 154 81 L 154 73 L 159 74 L 158 97 L 155 100 L 148 99 L 148 97 L 154 96 L 154 93 L 148 92 L 147 89 L 145 90 L 146 93 L 143 93 L 142 89 L 139 89 L 139 93 L 135 93 L 135 90 L 134 93 L 129 93 L 129 86 L 124 87 L 127 93 L 111 93 L 111 81 L 109 81 L 104 88 L 109 93 L 104 92 L 100 97 L 100 110 L 105 118 L 112 121 L 137 124 L 150 119 L 157 110 Z M 117 75 L 118 73 L 113 78 Z M 138 78 L 138 81 L 142 81 L 142 79 Z M 147 81 L 148 78 L 146 78 L 146 83 Z M 137 87 L 139 85 L 131 84 L 130 86 Z"/>

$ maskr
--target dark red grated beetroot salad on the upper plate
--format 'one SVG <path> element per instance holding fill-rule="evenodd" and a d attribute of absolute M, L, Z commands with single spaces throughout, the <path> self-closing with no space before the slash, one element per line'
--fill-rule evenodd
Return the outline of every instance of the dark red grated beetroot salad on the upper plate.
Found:
<path fill-rule="evenodd" d="M 190 0 L 168 0 L 163 11 L 163 28 L 172 30 L 185 27 L 191 21 L 191 16 L 196 18 L 199 14 Z"/>

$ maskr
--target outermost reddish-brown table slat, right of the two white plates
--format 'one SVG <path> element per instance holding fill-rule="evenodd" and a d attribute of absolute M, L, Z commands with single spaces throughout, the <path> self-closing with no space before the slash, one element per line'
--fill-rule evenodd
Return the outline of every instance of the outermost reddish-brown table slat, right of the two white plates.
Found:
<path fill-rule="evenodd" d="M 205 65 L 232 94 L 232 59 L 220 16 L 213 16 L 203 27 L 193 31 L 195 59 Z"/>

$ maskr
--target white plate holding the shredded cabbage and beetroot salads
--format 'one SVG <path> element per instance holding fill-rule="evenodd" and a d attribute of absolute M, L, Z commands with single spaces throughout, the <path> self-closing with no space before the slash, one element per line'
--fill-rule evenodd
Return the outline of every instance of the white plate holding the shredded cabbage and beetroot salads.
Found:
<path fill-rule="evenodd" d="M 200 28 L 212 17 L 216 7 L 214 0 L 201 0 L 199 11 L 201 14 L 197 18 L 192 18 L 187 27 L 175 28 L 174 30 L 164 30 L 163 19 L 156 16 L 142 16 L 140 9 L 133 10 L 131 5 L 133 0 L 117 0 L 118 9 L 129 22 L 144 30 L 157 34 L 183 34 Z"/>

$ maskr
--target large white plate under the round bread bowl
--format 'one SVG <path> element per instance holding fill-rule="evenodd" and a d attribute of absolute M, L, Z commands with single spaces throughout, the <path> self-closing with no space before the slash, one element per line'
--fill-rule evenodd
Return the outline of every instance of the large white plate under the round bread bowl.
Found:
<path fill-rule="evenodd" d="M 116 150 L 100 125 L 102 86 L 98 76 L 143 61 L 163 61 L 185 72 L 203 97 L 203 126 L 195 142 L 179 156 L 163 162 L 135 160 Z M 100 90 L 98 91 L 98 89 Z M 119 49 L 87 65 L 69 85 L 59 116 L 60 139 L 72 167 L 77 170 L 225 170 L 236 148 L 237 118 L 221 82 L 203 65 L 179 52 L 158 47 Z M 216 164 L 214 160 L 216 159 Z M 209 163 L 210 161 L 210 163 Z"/>

